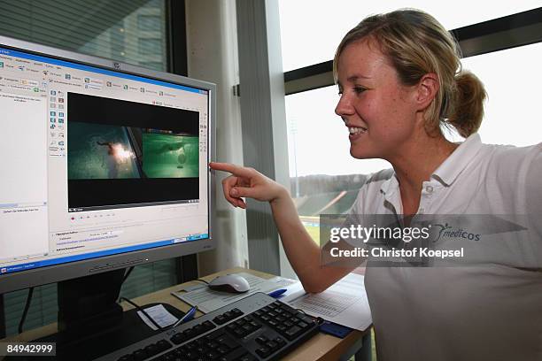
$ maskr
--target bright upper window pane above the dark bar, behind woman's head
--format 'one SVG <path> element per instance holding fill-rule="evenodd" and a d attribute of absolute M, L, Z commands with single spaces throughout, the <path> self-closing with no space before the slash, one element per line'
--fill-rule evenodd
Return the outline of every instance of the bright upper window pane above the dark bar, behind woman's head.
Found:
<path fill-rule="evenodd" d="M 279 0 L 283 69 L 286 72 L 332 59 L 346 32 L 374 13 L 411 7 L 429 12 L 447 29 L 454 29 L 539 6 L 539 0 L 491 4 L 468 0 Z"/>

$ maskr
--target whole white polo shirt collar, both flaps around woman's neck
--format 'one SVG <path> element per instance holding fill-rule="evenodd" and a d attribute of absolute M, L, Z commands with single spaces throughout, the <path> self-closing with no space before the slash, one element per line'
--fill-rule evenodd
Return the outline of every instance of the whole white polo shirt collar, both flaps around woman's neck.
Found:
<path fill-rule="evenodd" d="M 458 175 L 465 169 L 476 156 L 478 151 L 482 149 L 482 140 L 480 134 L 470 134 L 465 142 L 461 142 L 460 146 L 453 150 L 450 157 L 438 166 L 437 170 L 431 174 L 431 178 L 435 178 L 442 182 L 445 186 L 450 186 Z M 395 172 L 388 180 L 385 180 L 380 187 L 382 193 L 386 196 L 391 196 L 399 189 L 399 180 Z"/>

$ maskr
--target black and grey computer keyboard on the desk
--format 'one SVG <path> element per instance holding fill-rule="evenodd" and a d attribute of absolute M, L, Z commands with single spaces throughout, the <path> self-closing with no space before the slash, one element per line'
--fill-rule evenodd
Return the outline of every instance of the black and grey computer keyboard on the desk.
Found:
<path fill-rule="evenodd" d="M 313 317 L 256 293 L 97 360 L 277 360 L 318 330 Z"/>

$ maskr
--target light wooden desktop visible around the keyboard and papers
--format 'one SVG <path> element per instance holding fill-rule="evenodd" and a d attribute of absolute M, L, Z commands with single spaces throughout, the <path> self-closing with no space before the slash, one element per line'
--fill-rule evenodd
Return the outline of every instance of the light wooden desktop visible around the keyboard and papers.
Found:
<path fill-rule="evenodd" d="M 262 278 L 273 277 L 272 274 L 260 273 L 258 271 L 252 271 L 245 268 L 230 268 L 220 273 L 213 273 L 201 278 L 203 280 L 210 281 L 210 280 L 213 280 L 213 278 L 218 275 L 227 274 L 227 273 L 238 273 L 238 272 L 252 273 Z M 159 291 L 153 292 L 149 295 L 137 297 L 133 299 L 132 301 L 139 304 L 140 306 L 143 306 L 146 303 L 169 303 L 181 311 L 188 311 L 190 309 L 190 305 L 182 302 L 175 296 L 172 296 L 171 292 L 176 291 L 182 288 L 182 286 L 186 286 L 189 284 L 201 284 L 201 282 L 190 281 L 190 282 L 183 283 L 182 285 L 177 285 L 170 288 L 164 288 Z M 132 306 L 127 303 L 122 303 L 122 307 L 125 310 L 129 310 L 132 308 Z M 197 316 L 200 316 L 202 314 L 203 313 L 198 311 Z M 48 334 L 54 334 L 56 331 L 57 331 L 57 324 L 56 323 L 50 324 L 47 326 L 39 327 L 34 330 L 24 332 L 23 334 L 19 334 L 18 336 L 10 338 L 9 341 L 26 342 L 29 340 L 34 340 L 36 338 L 46 336 Z M 368 333 L 369 333 L 368 330 L 364 332 L 354 330 L 352 331 L 352 333 L 348 334 L 348 336 L 346 336 L 344 339 L 339 339 L 329 334 L 316 334 L 313 338 L 303 343 L 303 345 L 298 347 L 298 349 L 295 349 L 292 352 L 290 352 L 288 356 L 284 357 L 283 359 L 296 360 L 296 361 L 301 361 L 301 360 L 336 361 L 336 360 L 341 359 L 342 355 L 352 354 L 353 350 L 359 349 L 360 341 L 362 337 Z"/>

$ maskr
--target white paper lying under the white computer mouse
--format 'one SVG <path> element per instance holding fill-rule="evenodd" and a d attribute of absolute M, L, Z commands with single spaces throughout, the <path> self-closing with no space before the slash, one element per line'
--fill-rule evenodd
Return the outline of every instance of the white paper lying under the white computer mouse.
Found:
<path fill-rule="evenodd" d="M 185 292 L 183 290 L 172 292 L 171 294 L 182 301 L 197 306 L 197 309 L 202 312 L 211 312 L 220 309 L 229 303 L 236 302 L 241 298 L 255 294 L 256 292 L 269 293 L 278 288 L 287 288 L 288 286 L 299 283 L 298 280 L 290 280 L 283 277 L 274 277 L 272 279 L 264 279 L 254 276 L 250 273 L 236 273 L 243 276 L 248 281 L 251 289 L 243 294 L 231 294 L 228 292 L 213 291 L 203 285 L 201 288 Z"/>

